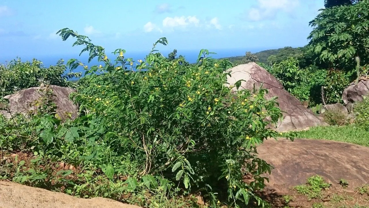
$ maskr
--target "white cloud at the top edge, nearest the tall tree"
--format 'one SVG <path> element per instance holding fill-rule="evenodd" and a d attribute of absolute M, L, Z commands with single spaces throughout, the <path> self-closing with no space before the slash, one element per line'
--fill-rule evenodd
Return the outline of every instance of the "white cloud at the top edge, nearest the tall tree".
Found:
<path fill-rule="evenodd" d="M 260 21 L 274 17 L 278 11 L 290 12 L 299 5 L 299 0 L 258 0 L 258 6 L 248 11 L 248 19 Z"/>

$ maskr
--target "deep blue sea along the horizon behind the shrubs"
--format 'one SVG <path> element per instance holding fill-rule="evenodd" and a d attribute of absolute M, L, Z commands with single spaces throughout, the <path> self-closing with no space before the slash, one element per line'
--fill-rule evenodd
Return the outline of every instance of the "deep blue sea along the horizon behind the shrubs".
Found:
<path fill-rule="evenodd" d="M 209 50 L 210 52 L 214 52 L 216 54 L 210 54 L 210 57 L 213 58 L 225 58 L 225 57 L 234 57 L 234 56 L 245 56 L 246 51 L 251 51 L 251 53 L 256 53 L 262 50 L 267 50 L 270 48 L 254 48 L 254 49 L 247 49 L 247 48 L 234 48 L 234 49 L 215 49 L 215 50 Z M 148 51 L 149 52 L 149 51 Z M 134 61 L 138 60 L 144 60 L 148 52 L 129 52 L 124 54 L 124 57 L 126 58 L 133 58 Z M 168 54 L 172 51 L 159 51 L 163 54 L 163 56 L 168 56 Z M 186 58 L 186 60 L 189 63 L 195 63 L 197 61 L 197 58 L 199 56 L 200 50 L 177 50 L 177 56 L 182 55 Z M 113 54 L 111 54 L 113 56 Z M 54 66 L 56 63 L 63 59 L 65 64 L 67 61 L 71 58 L 76 58 L 77 60 L 81 61 L 87 66 L 99 66 L 100 64 L 103 65 L 103 63 L 99 62 L 97 58 L 94 58 L 93 60 L 88 63 L 88 53 L 85 52 L 84 54 L 81 54 L 79 56 L 79 53 L 76 54 L 70 54 L 70 55 L 61 55 L 61 56 L 55 56 L 55 55 L 49 55 L 49 56 L 34 56 L 34 57 L 19 57 L 21 58 L 21 61 L 32 61 L 33 58 L 36 58 L 37 60 L 41 61 L 43 63 L 44 67 Z M 16 57 L 11 58 L 3 58 L 0 55 L 0 63 L 6 64 L 8 61 L 16 59 Z M 66 73 L 68 73 L 67 71 Z M 73 72 L 82 72 L 82 76 L 85 72 L 84 68 L 82 66 L 76 68 L 73 70 Z"/>

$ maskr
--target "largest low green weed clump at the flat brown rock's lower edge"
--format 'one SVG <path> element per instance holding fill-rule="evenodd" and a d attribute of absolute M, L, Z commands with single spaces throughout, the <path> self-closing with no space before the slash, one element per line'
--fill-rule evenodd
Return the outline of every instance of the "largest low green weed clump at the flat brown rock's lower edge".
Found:
<path fill-rule="evenodd" d="M 326 183 L 323 177 L 319 175 L 312 176 L 307 179 L 307 183 L 303 185 L 297 185 L 293 187 L 299 194 L 303 194 L 308 199 L 321 198 L 321 191 L 330 187 L 330 184 Z"/>

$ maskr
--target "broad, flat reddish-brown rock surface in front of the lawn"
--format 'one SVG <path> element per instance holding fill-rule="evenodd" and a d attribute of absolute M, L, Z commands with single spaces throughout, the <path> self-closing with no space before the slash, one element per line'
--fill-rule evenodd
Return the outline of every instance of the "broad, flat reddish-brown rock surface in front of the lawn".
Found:
<path fill-rule="evenodd" d="M 270 139 L 258 147 L 258 153 L 275 167 L 267 175 L 268 187 L 282 194 L 316 174 L 332 187 L 339 187 L 340 179 L 348 181 L 348 191 L 369 184 L 368 147 L 325 140 Z"/>

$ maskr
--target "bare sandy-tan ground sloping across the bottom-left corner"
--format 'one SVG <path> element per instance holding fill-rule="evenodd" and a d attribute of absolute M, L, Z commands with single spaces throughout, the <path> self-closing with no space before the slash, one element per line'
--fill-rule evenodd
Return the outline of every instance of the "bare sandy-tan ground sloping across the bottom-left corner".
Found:
<path fill-rule="evenodd" d="M 105 198 L 80 199 L 13 182 L 0 182 L 0 208 L 139 208 Z"/>

